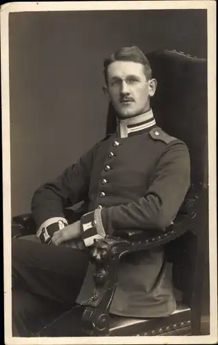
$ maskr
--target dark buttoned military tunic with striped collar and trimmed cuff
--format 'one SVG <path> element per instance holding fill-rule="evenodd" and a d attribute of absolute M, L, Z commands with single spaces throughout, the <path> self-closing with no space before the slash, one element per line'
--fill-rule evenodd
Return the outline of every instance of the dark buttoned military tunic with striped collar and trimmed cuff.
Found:
<path fill-rule="evenodd" d="M 152 110 L 135 120 L 119 122 L 115 134 L 37 190 L 32 211 L 38 226 L 46 219 L 64 217 L 63 206 L 87 196 L 89 213 L 81 219 L 86 246 L 96 235 L 112 234 L 114 230 L 164 231 L 172 223 L 190 185 L 188 148 L 157 127 Z M 92 294 L 91 287 L 87 288 L 91 284 L 88 275 L 79 302 Z M 111 313 L 160 317 L 175 308 L 164 248 L 121 259 Z"/>

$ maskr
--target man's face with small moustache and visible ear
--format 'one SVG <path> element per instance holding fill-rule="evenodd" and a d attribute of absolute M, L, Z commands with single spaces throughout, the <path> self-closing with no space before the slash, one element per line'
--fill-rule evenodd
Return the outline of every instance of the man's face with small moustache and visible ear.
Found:
<path fill-rule="evenodd" d="M 146 79 L 141 63 L 115 61 L 108 66 L 106 92 L 121 118 L 146 112 L 150 108 L 149 97 L 154 95 L 154 88 L 156 89 L 155 79 Z"/>

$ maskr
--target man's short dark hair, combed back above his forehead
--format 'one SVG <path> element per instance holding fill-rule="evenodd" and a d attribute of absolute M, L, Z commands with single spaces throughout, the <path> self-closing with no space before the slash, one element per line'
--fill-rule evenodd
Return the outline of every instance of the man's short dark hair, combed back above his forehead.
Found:
<path fill-rule="evenodd" d="M 108 58 L 103 61 L 103 74 L 106 83 L 108 83 L 108 66 L 110 63 L 115 61 L 133 61 L 137 63 L 141 63 L 144 66 L 146 79 L 150 79 L 152 77 L 152 70 L 150 68 L 150 63 L 143 52 L 137 47 L 123 47 L 116 52 L 112 53 Z"/>

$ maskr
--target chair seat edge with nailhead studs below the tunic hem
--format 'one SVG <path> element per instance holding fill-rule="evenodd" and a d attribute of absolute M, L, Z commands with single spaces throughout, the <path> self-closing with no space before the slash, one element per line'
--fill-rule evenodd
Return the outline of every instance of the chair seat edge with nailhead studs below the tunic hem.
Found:
<path fill-rule="evenodd" d="M 178 303 L 177 309 L 168 317 L 141 319 L 112 315 L 110 319 L 110 336 L 126 335 L 189 335 L 190 308 Z"/>

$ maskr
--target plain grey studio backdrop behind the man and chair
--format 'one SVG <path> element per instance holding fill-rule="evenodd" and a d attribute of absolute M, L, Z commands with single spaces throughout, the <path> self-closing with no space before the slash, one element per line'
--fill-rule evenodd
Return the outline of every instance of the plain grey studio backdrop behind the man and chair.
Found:
<path fill-rule="evenodd" d="M 12 216 L 30 212 L 34 190 L 105 136 L 103 59 L 133 45 L 206 58 L 206 16 L 206 10 L 10 14 Z"/>

